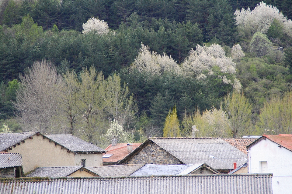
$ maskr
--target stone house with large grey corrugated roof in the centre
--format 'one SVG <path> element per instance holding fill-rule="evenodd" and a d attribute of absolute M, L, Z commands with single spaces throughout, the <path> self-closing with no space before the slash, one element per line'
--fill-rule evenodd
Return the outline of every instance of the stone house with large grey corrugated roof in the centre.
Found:
<path fill-rule="evenodd" d="M 247 155 L 221 138 L 150 138 L 117 164 L 205 163 L 228 173 L 247 162 Z"/>

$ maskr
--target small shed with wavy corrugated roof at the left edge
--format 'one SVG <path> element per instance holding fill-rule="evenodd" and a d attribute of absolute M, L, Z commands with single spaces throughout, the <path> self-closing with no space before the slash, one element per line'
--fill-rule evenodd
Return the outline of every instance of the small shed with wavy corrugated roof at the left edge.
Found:
<path fill-rule="evenodd" d="M 17 153 L 0 153 L 0 178 L 25 177 L 22 157 Z"/>

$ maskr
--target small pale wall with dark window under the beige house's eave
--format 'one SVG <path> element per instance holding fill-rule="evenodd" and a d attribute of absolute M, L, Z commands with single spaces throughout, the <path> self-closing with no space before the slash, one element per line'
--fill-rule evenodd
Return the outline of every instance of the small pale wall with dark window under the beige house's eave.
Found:
<path fill-rule="evenodd" d="M 103 154 L 76 154 L 75 166 L 81 165 L 81 160 L 86 159 L 85 167 L 103 166 Z"/>

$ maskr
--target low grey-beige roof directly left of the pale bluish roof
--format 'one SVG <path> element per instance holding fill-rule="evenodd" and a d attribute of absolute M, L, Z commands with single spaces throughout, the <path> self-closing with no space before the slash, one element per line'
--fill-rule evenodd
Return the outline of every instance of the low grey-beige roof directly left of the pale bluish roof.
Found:
<path fill-rule="evenodd" d="M 129 165 L 113 165 L 113 166 L 99 166 L 87 167 L 87 169 L 105 177 L 130 176 L 133 172 L 140 169 L 145 164 L 129 164 Z"/>

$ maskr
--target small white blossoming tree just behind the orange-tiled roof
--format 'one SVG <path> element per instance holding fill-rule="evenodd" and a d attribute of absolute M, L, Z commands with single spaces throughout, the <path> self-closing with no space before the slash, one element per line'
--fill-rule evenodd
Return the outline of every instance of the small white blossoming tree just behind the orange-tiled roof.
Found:
<path fill-rule="evenodd" d="M 130 133 L 125 132 L 123 126 L 119 124 L 118 120 L 113 119 L 110 121 L 109 129 L 105 135 L 106 139 L 111 142 L 113 137 L 118 138 L 119 143 L 129 143 L 132 142 L 132 136 Z"/>

